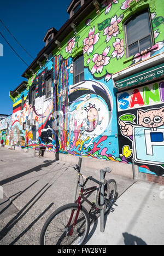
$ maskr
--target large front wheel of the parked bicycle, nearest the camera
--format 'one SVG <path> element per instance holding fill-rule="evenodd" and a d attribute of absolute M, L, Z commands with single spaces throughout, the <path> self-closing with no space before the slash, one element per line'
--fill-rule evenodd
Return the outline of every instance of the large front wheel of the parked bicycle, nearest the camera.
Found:
<path fill-rule="evenodd" d="M 81 206 L 73 226 L 77 210 L 77 203 L 69 203 L 52 213 L 41 231 L 40 245 L 82 245 L 90 230 L 90 219 L 86 209 Z M 73 234 L 70 235 L 72 227 Z"/>

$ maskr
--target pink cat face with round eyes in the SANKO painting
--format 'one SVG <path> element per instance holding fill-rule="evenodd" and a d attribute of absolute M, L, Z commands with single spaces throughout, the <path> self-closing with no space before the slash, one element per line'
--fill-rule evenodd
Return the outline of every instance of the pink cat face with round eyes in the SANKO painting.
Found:
<path fill-rule="evenodd" d="M 148 111 L 138 110 L 138 124 L 143 127 L 157 128 L 164 124 L 164 107 Z"/>

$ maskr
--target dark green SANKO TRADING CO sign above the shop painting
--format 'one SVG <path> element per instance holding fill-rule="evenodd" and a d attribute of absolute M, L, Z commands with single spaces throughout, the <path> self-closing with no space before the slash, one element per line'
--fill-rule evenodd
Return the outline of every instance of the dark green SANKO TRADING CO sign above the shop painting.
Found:
<path fill-rule="evenodd" d="M 151 80 L 157 79 L 164 76 L 164 64 L 159 66 L 146 69 L 143 72 L 136 73 L 130 77 L 118 80 L 115 82 L 116 88 L 124 88 L 132 85 L 140 85 L 143 83 L 150 82 Z"/>

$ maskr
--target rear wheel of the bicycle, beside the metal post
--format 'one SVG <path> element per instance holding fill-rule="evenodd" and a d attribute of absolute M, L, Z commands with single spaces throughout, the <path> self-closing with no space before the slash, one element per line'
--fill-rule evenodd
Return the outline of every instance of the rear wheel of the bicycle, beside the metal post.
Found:
<path fill-rule="evenodd" d="M 101 193 L 101 186 L 97 189 L 96 197 L 95 197 L 95 204 L 99 210 L 102 210 L 103 206 L 100 204 L 100 193 Z M 105 180 L 104 184 L 104 214 L 108 212 L 110 207 L 113 205 L 116 195 L 116 182 L 114 179 L 109 179 L 109 181 Z"/>

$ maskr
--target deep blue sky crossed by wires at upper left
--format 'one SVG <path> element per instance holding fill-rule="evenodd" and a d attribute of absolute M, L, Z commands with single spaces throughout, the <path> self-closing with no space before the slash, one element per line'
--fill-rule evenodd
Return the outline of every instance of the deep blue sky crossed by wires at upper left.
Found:
<path fill-rule="evenodd" d="M 0 4 L 0 19 L 35 59 L 44 47 L 43 38 L 46 31 L 51 27 L 59 30 L 69 19 L 67 13 L 69 3 L 71 0 L 5 0 Z M 33 59 L 15 42 L 1 22 L 0 31 L 22 59 L 30 65 Z M 3 44 L 3 57 L 0 56 L 0 114 L 11 114 L 13 102 L 9 97 L 9 91 L 14 90 L 23 80 L 26 80 L 21 75 L 27 66 L 11 50 L 1 34 L 0 44 Z"/>

